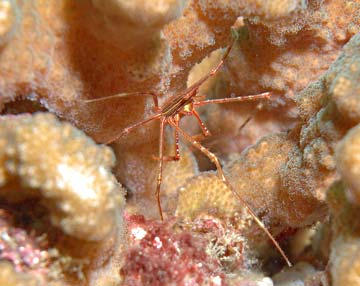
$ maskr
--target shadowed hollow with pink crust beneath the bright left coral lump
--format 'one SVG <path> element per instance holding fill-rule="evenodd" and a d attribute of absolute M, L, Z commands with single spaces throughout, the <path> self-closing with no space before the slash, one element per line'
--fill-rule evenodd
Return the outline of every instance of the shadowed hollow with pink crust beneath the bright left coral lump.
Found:
<path fill-rule="evenodd" d="M 23 192 L 29 198 L 24 195 L 22 200 L 8 201 L 11 192 Z M 53 226 L 49 203 L 36 193 L 35 189 L 20 186 L 17 180 L 0 188 L 0 260 L 9 260 L 21 272 L 39 271 L 44 279 L 78 285 L 75 282 L 85 279 L 88 265 L 84 252 L 96 243 L 80 241 Z"/>

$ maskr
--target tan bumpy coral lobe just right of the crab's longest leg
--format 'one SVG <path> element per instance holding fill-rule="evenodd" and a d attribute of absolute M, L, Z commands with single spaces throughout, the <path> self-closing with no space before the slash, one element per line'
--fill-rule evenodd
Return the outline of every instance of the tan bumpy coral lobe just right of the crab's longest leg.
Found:
<path fill-rule="evenodd" d="M 279 169 L 289 159 L 293 146 L 294 142 L 286 138 L 286 134 L 272 134 L 226 166 L 229 180 L 240 195 L 257 213 L 266 213 L 266 219 L 275 224 L 278 221 L 283 224 L 284 216 L 288 216 L 286 206 L 279 200 Z"/>

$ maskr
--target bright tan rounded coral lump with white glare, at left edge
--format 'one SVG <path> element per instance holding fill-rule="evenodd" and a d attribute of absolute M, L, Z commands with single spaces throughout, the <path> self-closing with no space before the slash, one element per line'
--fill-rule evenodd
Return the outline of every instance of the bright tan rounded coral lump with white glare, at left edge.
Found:
<path fill-rule="evenodd" d="M 124 199 L 109 172 L 114 157 L 108 147 L 97 147 L 50 114 L 3 117 L 0 128 L 6 200 L 31 195 L 6 190 L 6 183 L 19 177 L 23 186 L 36 190 L 33 195 L 43 198 L 52 223 L 64 233 L 96 241 L 112 232 Z"/>

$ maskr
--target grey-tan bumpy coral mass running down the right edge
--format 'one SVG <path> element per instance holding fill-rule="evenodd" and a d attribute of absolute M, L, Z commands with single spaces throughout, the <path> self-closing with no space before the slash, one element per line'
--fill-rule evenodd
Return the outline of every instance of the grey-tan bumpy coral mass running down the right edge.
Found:
<path fill-rule="evenodd" d="M 310 165 L 312 170 L 321 170 L 319 167 L 315 169 L 316 165 L 325 167 L 322 179 L 313 181 L 315 186 L 329 188 L 327 202 L 332 221 L 329 262 L 332 285 L 356 285 L 360 277 L 356 176 L 359 165 L 359 127 L 356 125 L 359 124 L 359 101 L 354 100 L 359 89 L 359 43 L 360 36 L 356 35 L 345 46 L 342 56 L 332 65 L 324 81 L 313 86 L 314 96 L 302 97 L 300 101 L 301 107 L 309 107 L 307 110 L 302 108 L 303 117 L 313 122 L 313 128 L 309 128 L 311 132 L 304 133 L 307 136 L 303 138 L 320 135 L 322 143 L 327 146 L 326 149 L 322 148 L 325 152 L 314 153 L 316 156 L 308 158 L 312 159 L 309 161 L 313 163 Z M 328 96 L 322 94 L 324 91 Z M 319 105 L 325 107 L 317 111 Z M 340 137 L 343 137 L 341 141 Z M 335 164 L 341 175 L 338 179 L 342 181 L 334 183 L 336 176 L 332 166 Z"/>

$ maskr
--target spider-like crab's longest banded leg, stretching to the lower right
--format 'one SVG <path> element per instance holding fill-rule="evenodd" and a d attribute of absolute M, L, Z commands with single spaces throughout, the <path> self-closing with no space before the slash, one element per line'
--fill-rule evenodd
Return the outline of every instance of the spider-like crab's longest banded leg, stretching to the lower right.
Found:
<path fill-rule="evenodd" d="M 234 196 L 242 203 L 247 210 L 249 211 L 250 215 L 254 218 L 255 222 L 259 225 L 259 227 L 266 233 L 266 235 L 269 237 L 269 239 L 272 241 L 272 243 L 275 245 L 281 256 L 284 258 L 286 263 L 291 266 L 291 262 L 287 258 L 284 251 L 281 249 L 280 245 L 277 243 L 275 238 L 272 236 L 272 234 L 267 230 L 263 222 L 256 216 L 255 212 L 252 210 L 250 205 L 245 202 L 240 194 L 231 186 L 229 181 L 226 179 L 224 172 L 222 170 L 221 164 L 219 159 L 215 156 L 214 153 L 210 152 L 208 149 L 206 149 L 204 146 L 202 146 L 199 142 L 192 139 L 189 134 L 187 134 L 185 131 L 183 131 L 180 127 L 176 126 L 176 124 L 170 119 L 168 120 L 168 123 L 173 126 L 187 141 L 189 141 L 194 147 L 198 148 L 202 153 L 204 153 L 210 160 L 213 162 L 217 168 L 218 175 L 220 179 L 226 184 L 226 186 L 231 190 L 231 192 L 234 194 Z"/>

